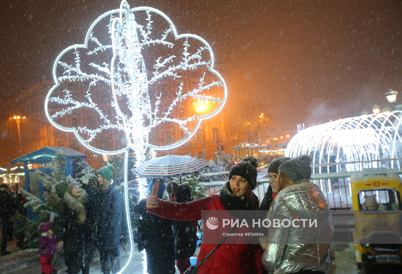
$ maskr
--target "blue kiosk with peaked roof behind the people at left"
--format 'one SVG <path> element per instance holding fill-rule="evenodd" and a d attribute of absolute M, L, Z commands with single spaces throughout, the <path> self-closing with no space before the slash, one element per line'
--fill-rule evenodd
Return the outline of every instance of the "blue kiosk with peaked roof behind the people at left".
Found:
<path fill-rule="evenodd" d="M 43 173 L 51 174 L 51 162 L 57 159 L 56 153 L 59 151 L 63 152 L 62 159 L 64 162 L 66 162 L 66 165 L 63 167 L 65 175 L 71 175 L 74 178 L 74 160 L 76 157 L 80 157 L 82 160 L 86 161 L 86 155 L 65 146 L 45 146 L 41 149 L 35 150 L 10 161 L 12 164 L 24 164 L 25 190 L 27 190 L 27 192 L 43 199 L 42 195 L 45 191 L 45 188 L 43 187 L 42 182 L 36 176 L 35 171 L 40 169 Z M 27 209 L 27 213 L 29 218 L 35 218 L 32 214 L 31 208 Z"/>

